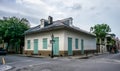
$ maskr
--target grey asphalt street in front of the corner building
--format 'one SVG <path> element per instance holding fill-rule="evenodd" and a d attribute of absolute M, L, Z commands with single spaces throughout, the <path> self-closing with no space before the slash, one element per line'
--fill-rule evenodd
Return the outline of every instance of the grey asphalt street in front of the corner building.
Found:
<path fill-rule="evenodd" d="M 8 71 L 120 71 L 120 53 L 103 54 L 89 59 L 66 57 L 33 58 L 17 55 L 5 56 Z"/>

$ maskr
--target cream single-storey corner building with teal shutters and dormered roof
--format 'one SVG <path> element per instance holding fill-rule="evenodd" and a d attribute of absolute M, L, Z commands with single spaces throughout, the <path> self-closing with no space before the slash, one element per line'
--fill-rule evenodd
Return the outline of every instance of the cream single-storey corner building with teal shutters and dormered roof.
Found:
<path fill-rule="evenodd" d="M 51 35 L 54 35 L 53 54 L 80 55 L 96 51 L 96 36 L 73 26 L 72 18 L 53 21 L 41 19 L 40 25 L 25 32 L 24 54 L 51 56 Z"/>

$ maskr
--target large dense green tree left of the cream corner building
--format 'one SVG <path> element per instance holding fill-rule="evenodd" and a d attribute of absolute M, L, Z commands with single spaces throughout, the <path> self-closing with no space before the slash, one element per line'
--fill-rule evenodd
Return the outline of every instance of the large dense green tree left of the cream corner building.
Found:
<path fill-rule="evenodd" d="M 24 31 L 29 27 L 29 21 L 25 18 L 3 17 L 0 19 L 0 37 L 8 43 L 6 49 L 18 53 L 24 46 Z"/>

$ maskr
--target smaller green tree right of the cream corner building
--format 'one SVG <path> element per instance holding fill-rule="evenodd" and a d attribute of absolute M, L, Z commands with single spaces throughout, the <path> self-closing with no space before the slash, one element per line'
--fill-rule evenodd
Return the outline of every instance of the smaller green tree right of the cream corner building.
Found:
<path fill-rule="evenodd" d="M 106 37 L 106 35 L 111 32 L 111 28 L 107 24 L 97 24 L 90 28 L 90 31 L 96 34 L 97 43 Z"/>

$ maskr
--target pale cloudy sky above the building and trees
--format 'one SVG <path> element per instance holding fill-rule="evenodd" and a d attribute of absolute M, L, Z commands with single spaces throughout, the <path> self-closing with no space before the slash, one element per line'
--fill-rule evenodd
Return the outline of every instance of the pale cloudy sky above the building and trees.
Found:
<path fill-rule="evenodd" d="M 73 25 L 90 31 L 96 24 L 108 24 L 120 38 L 120 0 L 0 0 L 0 18 L 16 16 L 29 20 L 31 27 L 40 19 L 73 18 Z"/>

